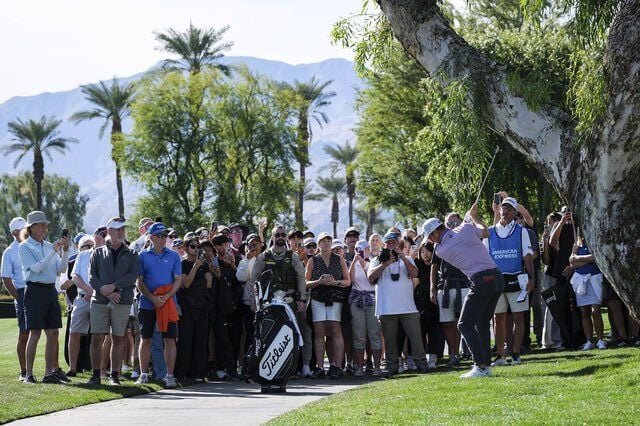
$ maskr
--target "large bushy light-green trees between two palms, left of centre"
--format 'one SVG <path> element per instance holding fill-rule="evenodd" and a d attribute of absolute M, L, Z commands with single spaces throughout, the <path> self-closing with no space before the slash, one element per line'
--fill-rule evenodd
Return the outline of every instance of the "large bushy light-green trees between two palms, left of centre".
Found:
<path fill-rule="evenodd" d="M 213 69 L 151 75 L 132 105 L 133 132 L 116 150 L 148 191 L 136 217 L 162 216 L 187 230 L 211 218 L 288 214 L 291 110 L 279 85 L 247 69 L 233 80 Z"/>

